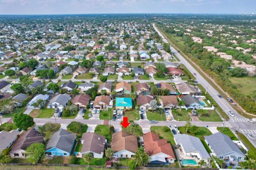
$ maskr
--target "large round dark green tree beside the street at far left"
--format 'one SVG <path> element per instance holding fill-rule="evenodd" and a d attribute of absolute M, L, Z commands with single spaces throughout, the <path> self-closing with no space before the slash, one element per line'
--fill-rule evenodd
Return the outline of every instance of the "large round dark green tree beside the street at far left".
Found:
<path fill-rule="evenodd" d="M 13 122 L 16 124 L 18 128 L 23 129 L 25 131 L 35 124 L 33 117 L 23 113 L 14 114 Z"/>

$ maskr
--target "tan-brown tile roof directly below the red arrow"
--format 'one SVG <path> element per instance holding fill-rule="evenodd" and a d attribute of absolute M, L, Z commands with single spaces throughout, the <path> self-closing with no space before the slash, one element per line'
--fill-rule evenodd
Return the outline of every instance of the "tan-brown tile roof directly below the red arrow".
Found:
<path fill-rule="evenodd" d="M 137 136 L 124 131 L 116 132 L 112 135 L 111 149 L 114 152 L 128 150 L 135 153 L 138 150 Z"/>

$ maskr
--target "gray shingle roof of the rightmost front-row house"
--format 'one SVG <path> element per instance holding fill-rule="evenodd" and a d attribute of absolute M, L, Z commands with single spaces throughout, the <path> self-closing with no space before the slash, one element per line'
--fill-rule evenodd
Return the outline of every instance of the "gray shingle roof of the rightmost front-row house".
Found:
<path fill-rule="evenodd" d="M 243 152 L 226 134 L 218 132 L 206 136 L 205 139 L 217 156 L 225 155 L 230 152 L 236 152 L 237 154 L 244 156 Z"/>

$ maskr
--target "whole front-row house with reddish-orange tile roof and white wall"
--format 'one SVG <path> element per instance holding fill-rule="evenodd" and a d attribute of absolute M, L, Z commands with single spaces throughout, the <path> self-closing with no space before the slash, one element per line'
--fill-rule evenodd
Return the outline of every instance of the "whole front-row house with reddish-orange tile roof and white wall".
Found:
<path fill-rule="evenodd" d="M 143 134 L 145 152 L 150 156 L 150 163 L 153 165 L 164 165 L 174 163 L 175 155 L 170 143 L 166 139 L 159 139 L 154 132 Z"/>

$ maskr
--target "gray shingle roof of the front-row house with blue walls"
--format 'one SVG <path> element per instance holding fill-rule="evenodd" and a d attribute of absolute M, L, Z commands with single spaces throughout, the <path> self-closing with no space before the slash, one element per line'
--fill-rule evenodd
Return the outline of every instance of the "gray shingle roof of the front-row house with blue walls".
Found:
<path fill-rule="evenodd" d="M 58 148 L 66 152 L 70 152 L 75 140 L 76 134 L 61 129 L 58 132 L 53 133 L 45 149 L 49 150 L 52 148 Z"/>

